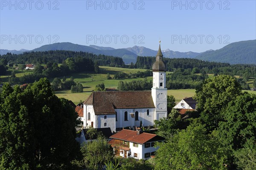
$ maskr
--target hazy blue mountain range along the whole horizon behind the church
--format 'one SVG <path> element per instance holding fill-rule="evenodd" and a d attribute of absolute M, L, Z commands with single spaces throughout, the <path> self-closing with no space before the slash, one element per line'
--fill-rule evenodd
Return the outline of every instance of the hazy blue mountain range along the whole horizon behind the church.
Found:
<path fill-rule="evenodd" d="M 44 45 L 33 50 L 6 50 L 0 49 L 0 55 L 7 52 L 21 54 L 23 52 L 49 51 L 49 50 L 68 50 L 90 52 L 96 55 L 111 55 L 121 57 L 125 64 L 136 63 L 137 56 L 155 56 L 156 50 L 148 49 L 143 46 L 133 46 L 125 49 L 114 49 L 102 46 L 84 46 L 73 43 L 54 43 Z M 204 61 L 216 61 L 231 64 L 256 64 L 256 40 L 239 41 L 230 43 L 218 50 L 207 50 L 206 52 L 177 52 L 170 49 L 162 50 L 166 58 L 197 58 Z"/>

